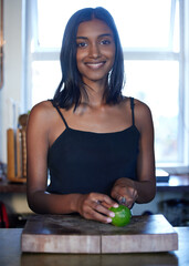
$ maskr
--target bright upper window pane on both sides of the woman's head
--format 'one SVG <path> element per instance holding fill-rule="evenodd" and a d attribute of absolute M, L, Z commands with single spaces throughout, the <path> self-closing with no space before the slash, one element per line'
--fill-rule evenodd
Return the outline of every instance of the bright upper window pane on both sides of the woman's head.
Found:
<path fill-rule="evenodd" d="M 171 0 L 69 0 L 66 6 L 62 0 L 38 0 L 39 45 L 60 48 L 70 17 L 78 9 L 99 6 L 113 14 L 124 48 L 172 48 Z M 175 14 L 176 10 L 172 27 Z"/>

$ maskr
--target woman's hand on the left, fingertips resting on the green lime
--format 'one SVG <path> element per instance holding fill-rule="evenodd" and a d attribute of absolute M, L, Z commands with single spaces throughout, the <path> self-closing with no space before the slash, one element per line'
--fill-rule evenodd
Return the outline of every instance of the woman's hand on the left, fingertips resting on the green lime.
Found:
<path fill-rule="evenodd" d="M 111 223 L 114 213 L 109 207 L 118 207 L 109 196 L 101 193 L 82 194 L 77 201 L 77 212 L 86 219 Z"/>

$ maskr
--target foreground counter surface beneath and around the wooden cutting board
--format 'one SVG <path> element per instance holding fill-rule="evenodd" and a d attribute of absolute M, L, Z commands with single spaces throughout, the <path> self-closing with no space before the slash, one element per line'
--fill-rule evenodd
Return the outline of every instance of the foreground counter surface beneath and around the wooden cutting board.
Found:
<path fill-rule="evenodd" d="M 175 227 L 179 236 L 179 249 L 167 253 L 135 253 L 119 255 L 63 255 L 21 253 L 21 228 L 0 228 L 1 266 L 145 266 L 189 265 L 189 227 Z M 132 244 L 132 243 L 130 243 Z"/>

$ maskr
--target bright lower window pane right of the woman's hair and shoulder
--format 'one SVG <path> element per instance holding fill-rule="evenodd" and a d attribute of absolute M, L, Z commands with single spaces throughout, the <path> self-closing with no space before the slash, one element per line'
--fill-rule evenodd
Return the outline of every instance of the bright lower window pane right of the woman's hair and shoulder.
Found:
<path fill-rule="evenodd" d="M 155 124 L 156 161 L 178 162 L 179 63 L 177 61 L 125 61 L 125 95 L 147 103 Z"/>

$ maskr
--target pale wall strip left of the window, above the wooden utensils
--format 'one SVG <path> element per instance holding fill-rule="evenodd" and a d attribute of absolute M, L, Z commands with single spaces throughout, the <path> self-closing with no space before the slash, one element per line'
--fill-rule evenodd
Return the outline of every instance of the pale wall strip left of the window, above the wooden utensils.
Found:
<path fill-rule="evenodd" d="M 3 88 L 0 90 L 0 161 L 7 162 L 7 129 L 13 125 L 12 103 L 23 112 L 24 0 L 4 1 Z"/>

